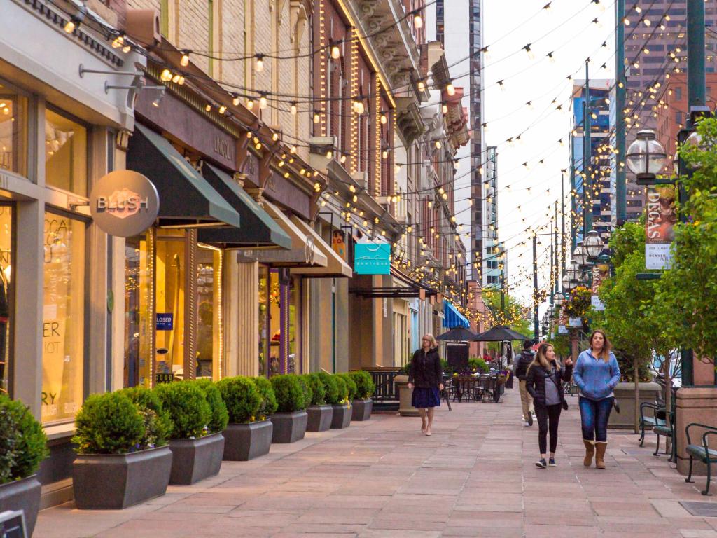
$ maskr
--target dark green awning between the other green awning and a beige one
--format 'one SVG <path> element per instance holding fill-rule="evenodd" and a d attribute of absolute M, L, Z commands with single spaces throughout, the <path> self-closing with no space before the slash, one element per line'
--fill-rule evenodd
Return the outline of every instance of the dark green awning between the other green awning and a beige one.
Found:
<path fill-rule="evenodd" d="M 242 217 L 242 227 L 199 230 L 199 241 L 223 248 L 291 248 L 291 238 L 229 174 L 204 163 L 204 179 Z"/>

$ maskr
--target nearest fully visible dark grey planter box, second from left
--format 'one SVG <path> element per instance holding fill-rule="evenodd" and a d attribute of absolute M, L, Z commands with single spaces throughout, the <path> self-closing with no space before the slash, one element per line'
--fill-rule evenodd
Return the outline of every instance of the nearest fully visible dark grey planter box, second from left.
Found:
<path fill-rule="evenodd" d="M 172 468 L 168 446 L 130 454 L 80 454 L 72 489 L 80 510 L 118 510 L 164 495 Z"/>

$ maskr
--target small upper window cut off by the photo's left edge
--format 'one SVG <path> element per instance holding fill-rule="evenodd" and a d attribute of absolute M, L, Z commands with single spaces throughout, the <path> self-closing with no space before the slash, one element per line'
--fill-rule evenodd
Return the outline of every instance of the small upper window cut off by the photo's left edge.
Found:
<path fill-rule="evenodd" d="M 27 176 L 27 99 L 0 82 L 0 169 Z"/>

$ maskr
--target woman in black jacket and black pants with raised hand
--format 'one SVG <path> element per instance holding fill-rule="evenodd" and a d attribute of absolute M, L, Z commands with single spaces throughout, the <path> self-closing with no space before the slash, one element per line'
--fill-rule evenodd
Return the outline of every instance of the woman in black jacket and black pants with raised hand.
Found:
<path fill-rule="evenodd" d="M 573 373 L 571 359 L 565 361 L 565 368 L 555 359 L 555 349 L 550 344 L 541 344 L 526 374 L 526 390 L 533 397 L 533 406 L 538 419 L 538 445 L 540 460 L 536 466 L 544 469 L 556 467 L 555 450 L 558 447 L 558 423 L 561 409 L 567 409 L 563 382 L 569 382 Z M 550 428 L 548 426 L 550 423 Z M 545 461 L 548 430 L 550 429 L 550 460 Z"/>

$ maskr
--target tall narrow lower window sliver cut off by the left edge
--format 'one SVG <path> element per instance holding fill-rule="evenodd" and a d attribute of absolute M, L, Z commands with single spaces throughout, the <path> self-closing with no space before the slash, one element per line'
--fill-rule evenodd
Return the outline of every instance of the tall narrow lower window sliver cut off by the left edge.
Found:
<path fill-rule="evenodd" d="M 0 205 L 0 393 L 10 390 L 12 207 Z"/>

